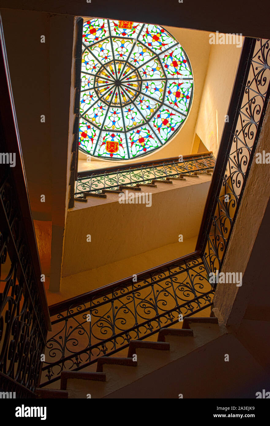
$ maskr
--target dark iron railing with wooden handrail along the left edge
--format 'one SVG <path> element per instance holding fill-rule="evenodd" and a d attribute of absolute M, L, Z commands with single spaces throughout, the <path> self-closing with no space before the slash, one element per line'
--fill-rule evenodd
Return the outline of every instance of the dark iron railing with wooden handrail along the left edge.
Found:
<path fill-rule="evenodd" d="M 31 398 L 51 329 L 0 21 L 0 390 Z"/>

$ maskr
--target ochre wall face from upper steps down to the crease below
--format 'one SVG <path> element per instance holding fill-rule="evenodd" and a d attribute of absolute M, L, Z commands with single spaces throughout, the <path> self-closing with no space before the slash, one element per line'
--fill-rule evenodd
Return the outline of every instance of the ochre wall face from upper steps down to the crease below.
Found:
<path fill-rule="evenodd" d="M 67 216 L 62 276 L 172 244 L 179 234 L 184 240 L 196 236 L 210 176 L 173 182 L 151 188 L 151 207 L 120 204 L 118 194 L 108 194 L 106 199 L 89 197 L 91 207 L 77 202 L 78 207 L 69 210 Z M 140 191 L 144 192 L 149 188 Z M 91 235 L 91 242 L 87 242 L 87 235 Z M 133 273 L 137 268 L 135 265 Z"/>

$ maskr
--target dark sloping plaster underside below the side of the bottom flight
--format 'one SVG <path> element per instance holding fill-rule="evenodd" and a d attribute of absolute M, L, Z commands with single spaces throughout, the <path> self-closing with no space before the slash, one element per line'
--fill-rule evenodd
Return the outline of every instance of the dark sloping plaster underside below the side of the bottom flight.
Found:
<path fill-rule="evenodd" d="M 185 345 L 185 342 L 182 345 Z M 224 362 L 224 355 L 228 352 L 229 362 Z M 162 356 L 165 358 L 164 354 L 157 354 L 155 359 Z M 149 368 L 153 362 L 149 355 L 148 360 L 144 357 L 144 368 L 147 361 Z M 179 357 L 178 360 L 167 363 L 164 367 L 121 387 L 126 377 L 123 374 L 123 380 L 120 379 L 118 383 L 119 390 L 106 395 L 105 398 L 178 399 L 179 394 L 182 394 L 184 399 L 255 398 L 257 391 L 266 389 L 261 388 L 262 385 L 267 386 L 265 373 L 266 371 L 235 336 L 223 334 Z"/>

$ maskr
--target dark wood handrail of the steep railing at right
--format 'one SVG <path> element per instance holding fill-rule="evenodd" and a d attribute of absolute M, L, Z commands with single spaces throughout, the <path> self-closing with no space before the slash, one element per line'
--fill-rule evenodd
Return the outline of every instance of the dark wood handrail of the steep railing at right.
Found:
<path fill-rule="evenodd" d="M 227 165 L 227 155 L 229 154 L 231 148 L 231 136 L 235 130 L 236 122 L 236 112 L 238 110 L 239 105 L 241 105 L 240 93 L 247 77 L 247 65 L 250 60 L 250 56 L 253 55 L 253 50 L 256 44 L 256 38 L 245 37 L 244 43 L 241 49 L 241 55 L 238 63 L 238 68 L 236 72 L 236 78 L 233 84 L 233 91 L 230 97 L 230 103 L 227 111 L 227 115 L 229 116 L 229 122 L 224 123 L 223 132 L 221 135 L 221 141 L 218 148 L 218 155 L 215 161 L 215 167 L 213 171 L 213 176 L 211 179 L 210 187 L 207 194 L 207 200 L 204 207 L 204 214 L 201 221 L 201 227 L 198 234 L 197 244 L 195 250 L 202 250 L 204 244 L 204 235 L 206 230 L 208 229 L 208 224 L 211 220 L 213 214 L 214 200 L 216 193 L 218 191 L 222 176 L 224 176 L 224 172 Z M 243 72 L 244 70 L 244 72 Z"/>

